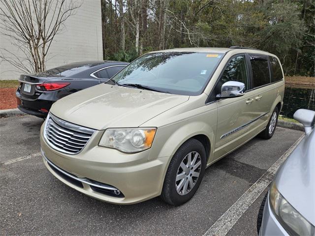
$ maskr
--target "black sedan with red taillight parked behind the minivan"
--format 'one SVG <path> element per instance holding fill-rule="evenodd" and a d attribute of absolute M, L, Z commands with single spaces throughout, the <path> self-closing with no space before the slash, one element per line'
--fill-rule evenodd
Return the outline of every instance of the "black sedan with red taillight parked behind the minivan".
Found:
<path fill-rule="evenodd" d="M 108 81 L 127 64 L 120 61 L 84 61 L 21 75 L 16 91 L 18 109 L 45 118 L 58 99 Z"/>

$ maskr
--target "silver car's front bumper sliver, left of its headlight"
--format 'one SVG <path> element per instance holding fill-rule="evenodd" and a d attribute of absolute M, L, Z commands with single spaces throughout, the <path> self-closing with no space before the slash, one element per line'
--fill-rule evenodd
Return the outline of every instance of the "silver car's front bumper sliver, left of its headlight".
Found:
<path fill-rule="evenodd" d="M 269 193 L 263 211 L 262 223 L 259 231 L 259 236 L 288 236 L 280 222 L 276 219 L 269 204 Z"/>

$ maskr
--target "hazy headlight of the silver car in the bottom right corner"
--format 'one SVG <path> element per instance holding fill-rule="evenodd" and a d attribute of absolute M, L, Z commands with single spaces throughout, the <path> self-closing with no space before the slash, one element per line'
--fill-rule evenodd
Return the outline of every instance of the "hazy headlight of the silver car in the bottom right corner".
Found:
<path fill-rule="evenodd" d="M 269 192 L 271 208 L 280 224 L 289 235 L 314 235 L 315 227 L 294 209 L 279 193 L 275 182 Z"/>

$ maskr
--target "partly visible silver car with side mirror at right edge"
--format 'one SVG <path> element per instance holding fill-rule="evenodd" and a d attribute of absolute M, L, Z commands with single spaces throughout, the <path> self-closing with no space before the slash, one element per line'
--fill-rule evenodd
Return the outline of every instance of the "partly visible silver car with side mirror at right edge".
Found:
<path fill-rule="evenodd" d="M 315 236 L 315 112 L 300 109 L 294 118 L 306 135 L 280 167 L 262 202 L 260 236 Z"/>

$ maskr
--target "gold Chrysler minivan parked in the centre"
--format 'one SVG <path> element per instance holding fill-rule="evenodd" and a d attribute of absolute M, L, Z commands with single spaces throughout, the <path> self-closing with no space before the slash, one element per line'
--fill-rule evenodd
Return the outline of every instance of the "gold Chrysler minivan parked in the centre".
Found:
<path fill-rule="evenodd" d="M 256 135 L 283 106 L 279 59 L 251 48 L 151 52 L 111 80 L 66 96 L 41 127 L 47 169 L 115 204 L 187 202 L 205 169 Z"/>

